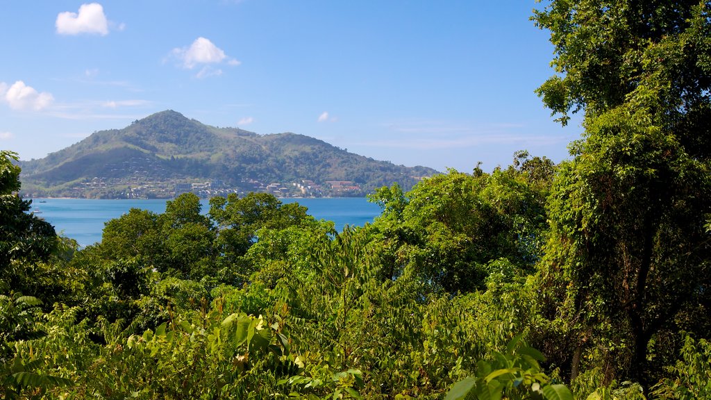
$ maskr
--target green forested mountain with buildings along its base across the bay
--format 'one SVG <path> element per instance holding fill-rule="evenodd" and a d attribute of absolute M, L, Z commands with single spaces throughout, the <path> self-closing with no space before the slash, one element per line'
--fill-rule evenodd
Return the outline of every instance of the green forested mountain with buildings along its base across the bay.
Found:
<path fill-rule="evenodd" d="M 94 132 L 21 167 L 24 196 L 88 198 L 169 197 L 189 190 L 363 196 L 394 182 L 409 189 L 437 173 L 376 161 L 304 135 L 213 127 L 172 110 Z"/>

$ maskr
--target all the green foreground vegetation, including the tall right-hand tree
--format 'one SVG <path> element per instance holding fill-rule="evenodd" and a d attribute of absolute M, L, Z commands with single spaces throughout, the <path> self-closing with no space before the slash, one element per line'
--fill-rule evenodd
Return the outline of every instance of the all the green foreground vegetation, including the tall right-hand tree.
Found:
<path fill-rule="evenodd" d="M 515 154 L 370 196 L 346 227 L 270 194 L 133 209 L 77 250 L 0 155 L 0 389 L 47 399 L 711 396 L 708 2 L 552 1 L 584 112 Z"/>

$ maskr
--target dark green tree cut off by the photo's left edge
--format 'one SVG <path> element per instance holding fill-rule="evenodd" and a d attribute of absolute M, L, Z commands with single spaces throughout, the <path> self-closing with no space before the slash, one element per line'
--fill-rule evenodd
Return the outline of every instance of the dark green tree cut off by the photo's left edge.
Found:
<path fill-rule="evenodd" d="M 54 227 L 28 213 L 31 202 L 17 194 L 20 167 L 13 161 L 18 161 L 16 153 L 0 150 L 0 293 L 11 293 L 0 294 L 0 392 L 6 399 L 20 398 L 25 389 L 38 393 L 71 383 L 33 372 L 36 366 L 23 364 L 16 352 L 16 342 L 43 335 L 36 327 L 42 301 L 21 292 L 41 286 L 33 280 L 46 276 L 35 275 L 34 267 L 50 259 L 59 241 Z M 46 273 L 46 268 L 37 269 Z"/>

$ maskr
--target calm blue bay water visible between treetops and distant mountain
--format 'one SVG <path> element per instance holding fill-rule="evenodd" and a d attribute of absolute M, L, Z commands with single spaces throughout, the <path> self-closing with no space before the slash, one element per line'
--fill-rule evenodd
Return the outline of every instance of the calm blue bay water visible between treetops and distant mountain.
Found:
<path fill-rule="evenodd" d="M 333 221 L 336 230 L 343 226 L 363 226 L 380 215 L 377 204 L 362 197 L 333 199 L 282 199 L 283 203 L 298 202 L 309 209 L 316 219 Z M 208 200 L 201 201 L 203 211 L 210 208 Z M 75 239 L 80 246 L 101 241 L 104 223 L 119 218 L 130 209 L 144 209 L 163 213 L 166 200 L 90 200 L 90 199 L 33 199 L 32 209 L 51 223 L 58 233 Z"/>

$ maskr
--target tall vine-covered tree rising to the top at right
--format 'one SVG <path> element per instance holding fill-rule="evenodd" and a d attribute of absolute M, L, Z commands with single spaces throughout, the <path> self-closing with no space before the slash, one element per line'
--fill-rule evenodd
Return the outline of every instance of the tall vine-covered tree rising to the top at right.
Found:
<path fill-rule="evenodd" d="M 533 17 L 551 31 L 563 75 L 538 94 L 564 125 L 584 110 L 584 137 L 552 191 L 542 265 L 572 377 L 587 352 L 607 381 L 649 383 L 649 352 L 658 362 L 668 352 L 651 344 L 678 330 L 707 335 L 710 10 L 709 1 L 574 0 Z"/>

